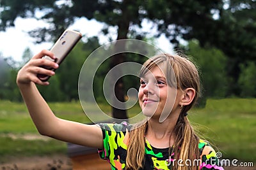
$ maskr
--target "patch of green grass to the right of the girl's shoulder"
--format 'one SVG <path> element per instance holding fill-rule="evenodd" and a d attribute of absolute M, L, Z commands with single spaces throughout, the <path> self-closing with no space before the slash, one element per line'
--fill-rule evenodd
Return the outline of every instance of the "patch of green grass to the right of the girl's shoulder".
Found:
<path fill-rule="evenodd" d="M 209 99 L 190 112 L 189 120 L 223 157 L 256 162 L 256 99 Z"/>

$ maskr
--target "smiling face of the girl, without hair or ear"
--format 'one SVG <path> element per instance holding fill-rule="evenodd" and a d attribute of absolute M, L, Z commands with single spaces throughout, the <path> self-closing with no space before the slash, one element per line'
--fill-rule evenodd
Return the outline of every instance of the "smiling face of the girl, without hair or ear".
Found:
<path fill-rule="evenodd" d="M 175 104 L 177 90 L 168 86 L 163 71 L 153 67 L 141 78 L 138 93 L 143 114 L 147 117 L 168 117 Z M 161 121 L 162 122 L 162 121 Z"/>

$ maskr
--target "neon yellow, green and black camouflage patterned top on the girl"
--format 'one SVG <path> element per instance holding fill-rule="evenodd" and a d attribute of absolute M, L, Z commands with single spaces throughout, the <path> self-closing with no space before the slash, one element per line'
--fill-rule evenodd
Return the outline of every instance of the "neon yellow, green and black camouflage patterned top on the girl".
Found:
<path fill-rule="evenodd" d="M 127 122 L 121 124 L 99 124 L 103 134 L 103 149 L 99 149 L 100 158 L 106 159 L 111 164 L 111 169 L 125 169 L 125 159 L 127 144 L 129 141 L 129 129 L 131 125 Z M 172 169 L 173 156 L 169 156 L 169 148 L 154 148 L 145 140 L 145 166 L 143 169 Z M 198 149 L 200 150 L 200 166 L 198 169 L 220 169 L 217 166 L 218 159 L 216 153 L 209 143 L 200 140 Z M 170 161 L 168 161 L 170 160 Z M 185 165 L 186 162 L 183 162 Z M 189 164 L 189 162 L 187 162 Z M 193 164 L 193 161 L 192 161 Z"/>

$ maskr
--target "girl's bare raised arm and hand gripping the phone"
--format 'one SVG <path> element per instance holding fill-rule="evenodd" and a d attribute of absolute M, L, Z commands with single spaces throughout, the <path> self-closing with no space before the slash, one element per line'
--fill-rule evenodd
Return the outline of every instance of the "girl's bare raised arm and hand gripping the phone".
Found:
<path fill-rule="evenodd" d="M 37 74 L 54 75 L 54 71 L 40 66 L 48 66 L 54 69 L 58 64 L 51 60 L 42 59 L 45 55 L 54 59 L 53 53 L 42 50 L 20 69 L 17 74 L 17 85 L 28 107 L 29 114 L 40 134 L 50 136 L 78 145 L 102 148 L 102 131 L 97 125 L 85 125 L 58 118 L 52 113 L 51 108 L 41 96 L 35 83 L 49 85 L 48 81 L 41 81 Z"/>

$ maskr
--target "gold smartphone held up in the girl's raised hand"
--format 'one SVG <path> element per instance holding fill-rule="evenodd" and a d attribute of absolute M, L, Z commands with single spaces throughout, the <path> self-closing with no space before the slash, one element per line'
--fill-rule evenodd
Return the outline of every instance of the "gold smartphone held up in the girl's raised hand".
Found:
<path fill-rule="evenodd" d="M 51 52 L 54 53 L 56 59 L 53 60 L 51 59 L 51 57 L 48 56 L 45 56 L 43 58 L 46 60 L 52 60 L 60 65 L 81 38 L 82 34 L 80 32 L 70 29 L 65 30 L 51 48 Z M 52 67 L 42 67 L 55 71 L 55 69 L 53 69 Z M 37 74 L 37 76 L 41 81 L 47 81 L 51 77 L 45 74 Z"/>

